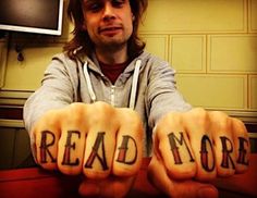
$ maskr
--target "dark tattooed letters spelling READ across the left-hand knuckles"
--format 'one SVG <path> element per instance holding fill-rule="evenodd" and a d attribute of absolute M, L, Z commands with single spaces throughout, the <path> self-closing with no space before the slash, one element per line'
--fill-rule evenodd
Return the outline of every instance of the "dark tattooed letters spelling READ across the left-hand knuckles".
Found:
<path fill-rule="evenodd" d="M 94 164 L 98 161 L 101 165 L 103 171 L 109 170 L 107 163 L 107 154 L 106 154 L 106 133 L 98 132 L 95 143 L 91 147 L 89 157 L 85 160 L 84 169 L 94 169 Z M 73 137 L 77 137 L 73 140 Z M 78 131 L 68 131 L 65 145 L 64 145 L 64 153 L 62 158 L 62 165 L 69 166 L 77 166 L 79 164 L 79 159 L 76 158 L 72 161 L 72 153 L 77 149 L 76 144 L 81 138 L 81 132 Z M 41 132 L 41 139 L 40 139 L 40 158 L 39 162 L 41 164 L 46 163 L 56 163 L 57 162 L 57 154 L 51 151 L 51 147 L 54 147 L 57 144 L 57 138 L 54 133 L 50 131 L 42 131 Z M 128 146 L 130 145 L 130 146 Z M 136 140 L 130 135 L 123 135 L 121 145 L 118 147 L 118 158 L 115 159 L 117 162 L 133 165 L 136 163 L 138 159 L 138 147 Z M 134 154 L 127 154 L 128 151 L 133 151 Z"/>

